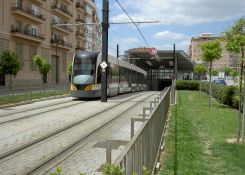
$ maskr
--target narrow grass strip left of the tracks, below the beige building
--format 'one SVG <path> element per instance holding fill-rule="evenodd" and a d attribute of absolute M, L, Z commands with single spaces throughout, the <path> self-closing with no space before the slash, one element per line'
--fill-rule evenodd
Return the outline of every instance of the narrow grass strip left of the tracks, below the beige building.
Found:
<path fill-rule="evenodd" d="M 34 99 L 40 99 L 44 97 L 69 94 L 69 93 L 70 91 L 64 88 L 64 89 L 45 91 L 45 93 L 44 91 L 39 91 L 39 92 L 13 94 L 13 95 L 8 95 L 8 96 L 0 96 L 0 106 L 6 105 L 6 104 L 23 102 L 23 101 L 31 101 Z"/>

